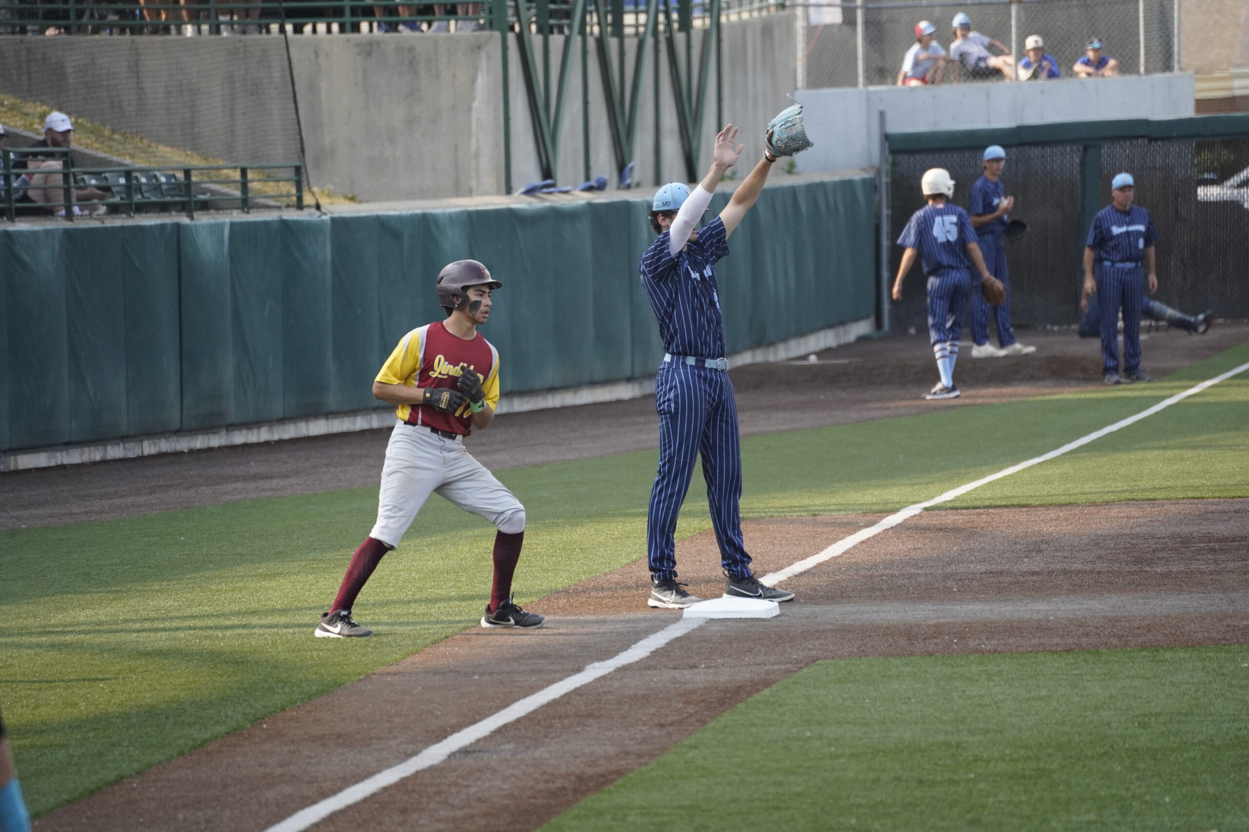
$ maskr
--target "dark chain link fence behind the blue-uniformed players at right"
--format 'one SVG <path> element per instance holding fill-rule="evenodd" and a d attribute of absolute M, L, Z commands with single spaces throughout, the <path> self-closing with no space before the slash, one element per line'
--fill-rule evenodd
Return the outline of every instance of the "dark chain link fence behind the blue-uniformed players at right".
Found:
<path fill-rule="evenodd" d="M 1008 241 L 1012 318 L 1024 327 L 1079 322 L 1083 279 L 1083 145 L 1007 148 L 1005 192 L 1015 197 L 1012 218 L 1028 233 Z M 1207 141 L 1122 140 L 1102 145 L 1098 208 L 1110 202 L 1110 180 L 1120 171 L 1137 181 L 1137 203 L 1158 227 L 1157 298 L 1197 314 L 1214 309 L 1220 318 L 1249 317 L 1244 291 L 1249 262 L 1249 137 Z M 944 167 L 955 181 L 954 202 L 967 207 L 980 176 L 979 150 L 899 152 L 891 156 L 889 274 L 897 274 L 902 249 L 894 243 L 911 215 L 924 205 L 919 180 Z M 918 282 L 918 283 L 917 283 Z M 918 268 L 909 277 L 922 286 Z M 923 291 L 891 307 L 893 332 L 927 331 Z M 965 331 L 964 331 L 965 332 Z M 969 337 L 969 336 L 964 336 Z"/>

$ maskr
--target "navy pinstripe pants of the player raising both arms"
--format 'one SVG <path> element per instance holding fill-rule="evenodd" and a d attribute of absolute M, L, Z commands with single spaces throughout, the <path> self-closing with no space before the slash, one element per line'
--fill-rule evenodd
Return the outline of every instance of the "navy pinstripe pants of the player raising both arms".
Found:
<path fill-rule="evenodd" d="M 651 489 L 646 554 L 656 580 L 677 576 L 677 515 L 689 489 L 694 457 L 702 457 L 711 523 L 721 565 L 733 578 L 751 574 L 742 541 L 742 448 L 737 402 L 728 373 L 683 362 L 664 363 L 654 379 L 659 414 L 659 470 Z"/>

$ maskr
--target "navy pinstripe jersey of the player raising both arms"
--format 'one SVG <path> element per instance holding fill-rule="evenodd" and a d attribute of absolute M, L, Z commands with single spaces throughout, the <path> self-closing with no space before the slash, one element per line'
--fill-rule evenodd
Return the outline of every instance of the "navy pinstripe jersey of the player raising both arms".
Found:
<path fill-rule="evenodd" d="M 724 357 L 716 261 L 728 254 L 727 237 L 716 217 L 676 257 L 668 253 L 667 231 L 642 254 L 642 288 L 659 322 L 663 348 L 673 356 Z"/>

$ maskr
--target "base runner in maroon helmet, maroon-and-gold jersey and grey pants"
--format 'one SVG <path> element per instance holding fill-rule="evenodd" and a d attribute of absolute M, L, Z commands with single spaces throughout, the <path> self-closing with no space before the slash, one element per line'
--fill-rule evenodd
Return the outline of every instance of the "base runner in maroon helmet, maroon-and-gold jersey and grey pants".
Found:
<path fill-rule="evenodd" d="M 486 467 L 463 438 L 486 428 L 498 404 L 498 351 L 477 327 L 490 318 L 492 289 L 502 286 L 475 259 L 438 273 L 445 321 L 403 336 L 373 382 L 373 397 L 397 404 L 398 424 L 386 445 L 377 523 L 351 556 L 338 595 L 321 614 L 320 637 L 368 636 L 351 607 L 382 555 L 398 545 L 432 491 L 495 524 L 495 581 L 483 627 L 536 627 L 541 615 L 512 602 L 512 573 L 525 540 L 525 506 Z"/>

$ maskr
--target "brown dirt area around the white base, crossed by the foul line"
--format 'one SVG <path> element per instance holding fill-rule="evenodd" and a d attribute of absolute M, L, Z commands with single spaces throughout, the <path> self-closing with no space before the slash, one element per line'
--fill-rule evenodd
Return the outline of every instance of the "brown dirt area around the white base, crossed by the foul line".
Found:
<path fill-rule="evenodd" d="M 878 516 L 744 526 L 763 573 Z M 712 621 L 317 830 L 531 830 L 822 659 L 1249 641 L 1249 500 L 929 511 L 786 585 L 768 621 Z M 718 594 L 711 533 L 678 544 Z M 264 830 L 676 619 L 636 563 L 40 818 L 36 830 Z M 382 624 L 382 622 L 372 622 Z M 311 637 L 311 636 L 310 636 Z"/>

